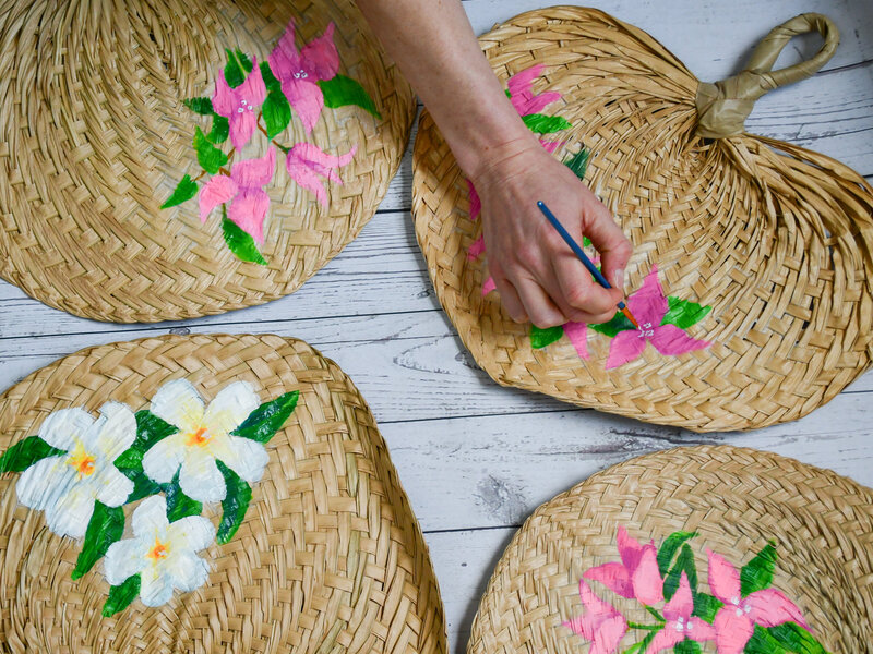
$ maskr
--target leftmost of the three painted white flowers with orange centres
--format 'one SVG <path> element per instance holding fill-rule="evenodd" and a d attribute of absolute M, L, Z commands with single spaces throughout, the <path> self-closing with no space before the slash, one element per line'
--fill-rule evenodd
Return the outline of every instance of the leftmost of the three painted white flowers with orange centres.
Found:
<path fill-rule="evenodd" d="M 15 485 L 19 501 L 45 511 L 56 534 L 81 538 L 95 500 L 120 507 L 133 491 L 133 482 L 112 462 L 136 438 L 136 419 L 118 402 L 104 404 L 96 421 L 82 409 L 62 409 L 43 421 L 39 437 L 64 453 L 22 473 Z"/>

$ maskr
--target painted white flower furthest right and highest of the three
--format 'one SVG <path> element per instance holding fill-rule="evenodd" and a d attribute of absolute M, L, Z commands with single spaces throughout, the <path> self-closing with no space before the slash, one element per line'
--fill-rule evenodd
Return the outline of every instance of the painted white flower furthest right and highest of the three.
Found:
<path fill-rule="evenodd" d="M 159 484 L 171 482 L 178 471 L 182 492 L 199 501 L 220 501 L 227 495 L 216 459 L 247 482 L 259 481 L 268 459 L 266 449 L 230 434 L 259 405 L 246 382 L 225 386 L 205 409 L 187 380 L 168 382 L 152 400 L 151 411 L 179 431 L 145 452 L 143 470 Z"/>

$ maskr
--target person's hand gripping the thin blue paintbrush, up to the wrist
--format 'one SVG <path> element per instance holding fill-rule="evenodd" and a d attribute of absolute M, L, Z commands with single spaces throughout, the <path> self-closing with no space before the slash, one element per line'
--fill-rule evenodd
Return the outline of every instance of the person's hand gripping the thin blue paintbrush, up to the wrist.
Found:
<path fill-rule="evenodd" d="M 482 203 L 488 269 L 515 322 L 547 328 L 612 318 L 623 298 L 631 242 L 573 171 L 536 141 L 524 140 L 492 150 L 471 181 Z M 554 211 L 577 242 L 583 234 L 591 240 L 612 289 L 591 279 L 537 201 Z"/>

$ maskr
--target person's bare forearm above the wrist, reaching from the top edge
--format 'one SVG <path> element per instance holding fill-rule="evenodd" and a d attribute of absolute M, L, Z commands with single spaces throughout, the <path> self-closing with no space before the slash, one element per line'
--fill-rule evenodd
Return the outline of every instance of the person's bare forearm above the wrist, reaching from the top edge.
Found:
<path fill-rule="evenodd" d="M 358 7 L 469 177 L 507 150 L 536 144 L 459 0 L 358 0 Z"/>

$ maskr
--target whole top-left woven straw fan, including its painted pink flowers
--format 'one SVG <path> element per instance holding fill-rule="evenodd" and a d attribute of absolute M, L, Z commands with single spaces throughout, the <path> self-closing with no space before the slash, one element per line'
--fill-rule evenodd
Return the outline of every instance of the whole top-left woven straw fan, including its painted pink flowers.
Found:
<path fill-rule="evenodd" d="M 412 93 L 351 0 L 9 3 L 0 277 L 120 323 L 294 292 L 372 217 Z"/>

